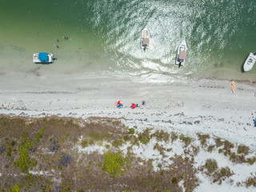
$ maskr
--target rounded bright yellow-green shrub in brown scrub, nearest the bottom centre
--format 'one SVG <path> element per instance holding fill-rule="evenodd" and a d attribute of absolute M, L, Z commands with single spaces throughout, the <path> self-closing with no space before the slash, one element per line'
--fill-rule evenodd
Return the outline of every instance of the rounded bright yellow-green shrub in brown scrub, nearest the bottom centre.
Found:
<path fill-rule="evenodd" d="M 109 150 L 104 154 L 104 166 L 102 170 L 108 172 L 110 177 L 116 178 L 119 174 L 125 172 L 126 163 L 126 158 L 122 157 L 121 151 L 112 153 Z"/>

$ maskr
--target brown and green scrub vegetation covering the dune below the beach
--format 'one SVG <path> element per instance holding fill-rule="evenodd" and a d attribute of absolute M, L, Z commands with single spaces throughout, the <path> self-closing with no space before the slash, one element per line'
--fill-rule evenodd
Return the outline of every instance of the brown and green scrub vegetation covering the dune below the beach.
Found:
<path fill-rule="evenodd" d="M 0 117 L 0 125 L 2 125 L 1 121 L 2 118 Z M 5 191 L 9 191 L 15 182 L 22 183 L 21 191 L 82 191 L 82 189 L 92 191 L 126 191 L 126 189 L 128 191 L 152 191 L 153 189 L 155 191 L 182 191 L 182 188 L 185 191 L 195 191 L 199 184 L 198 168 L 194 165 L 193 158 L 197 153 L 191 154 L 191 152 L 198 151 L 200 148 L 193 146 L 194 143 L 191 145 L 193 138 L 191 138 L 190 144 L 186 148 L 189 154 L 187 157 L 173 155 L 169 158 L 168 164 L 162 164 L 161 161 L 166 161 L 166 158 L 161 159 L 159 157 L 158 167 L 154 166 L 155 159 L 146 160 L 135 154 L 137 152 L 134 148 L 137 149 L 138 147 L 134 147 L 134 145 L 147 144 L 151 138 L 155 137 L 158 142 L 154 145 L 154 150 L 158 150 L 164 156 L 166 151 L 172 149 L 170 147 L 176 147 L 170 146 L 170 143 L 162 144 L 162 142 L 168 142 L 164 134 L 169 133 L 169 140 L 174 142 L 180 138 L 174 131 L 170 133 L 159 130 L 150 134 L 153 130 L 148 128 L 140 134 L 139 130 L 134 130 L 132 134 L 128 126 L 122 126 L 123 124 L 116 119 L 96 117 L 88 118 L 85 121 L 76 118 L 70 121 L 70 118 L 56 117 L 30 120 L 5 118 L 4 121 L 5 126 L 0 126 L 2 138 L 4 138 L 0 141 L 0 158 L 2 159 L 0 166 L 3 167 L 2 178 L 6 177 L 4 185 L 1 186 Z M 155 128 L 158 130 L 158 127 Z M 181 138 L 186 141 L 187 136 L 189 135 L 182 135 Z M 81 137 L 83 137 L 82 141 L 79 140 Z M 129 141 L 129 145 L 127 145 L 127 154 L 124 155 L 118 148 L 126 141 Z M 206 143 L 208 141 L 206 136 Z M 104 146 L 108 151 L 105 154 L 100 154 L 97 150 L 91 153 L 78 154 L 78 150 L 75 149 L 77 143 L 86 147 L 95 143 L 103 145 L 105 142 L 107 144 Z M 233 149 L 230 147 L 225 149 L 224 140 L 220 140 L 220 142 L 223 142 L 222 147 L 218 148 L 217 144 L 214 143 L 214 145 L 207 146 L 206 149 L 212 151 L 215 146 L 216 149 L 222 150 L 222 152 L 226 149 Z M 6 173 L 17 174 L 18 166 L 14 166 L 14 162 L 17 162 L 22 156 L 20 148 L 25 143 L 34 145 L 25 147 L 28 161 L 24 162 L 28 164 L 26 166 L 28 168 L 24 170 L 43 171 L 44 173 L 54 170 L 54 174 L 18 174 L 15 182 L 6 175 Z M 11 149 L 11 158 L 6 157 L 8 147 Z M 36 149 L 36 153 L 33 149 Z M 242 160 L 248 163 L 256 161 L 251 156 L 246 158 L 245 153 L 234 153 L 236 150 L 228 151 L 227 155 L 234 159 L 232 161 Z M 31 166 L 30 162 L 33 162 L 33 159 L 37 160 L 37 164 L 34 164 L 37 166 Z M 155 168 L 158 170 L 154 170 Z M 206 165 L 201 167 L 202 171 L 206 171 L 208 175 L 210 174 L 210 177 L 216 183 L 230 178 L 229 175 L 233 174 L 232 170 L 227 167 L 214 169 L 211 168 L 210 164 L 207 164 L 207 168 Z M 210 173 L 210 171 L 212 172 Z M 27 172 L 24 171 L 24 173 Z M 174 179 L 173 182 L 173 178 L 177 180 Z M 61 180 L 61 182 L 52 182 L 54 180 Z M 110 186 L 110 182 L 122 182 L 124 185 Z M 253 186 L 250 182 L 248 182 L 249 185 Z M 37 189 L 38 186 L 40 186 L 40 189 Z"/>

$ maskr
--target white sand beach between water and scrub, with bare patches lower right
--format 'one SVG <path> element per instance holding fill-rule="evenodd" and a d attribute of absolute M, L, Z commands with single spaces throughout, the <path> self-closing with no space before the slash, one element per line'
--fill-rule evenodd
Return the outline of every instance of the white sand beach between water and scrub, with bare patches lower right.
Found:
<path fill-rule="evenodd" d="M 41 69 L 1 74 L 0 90 L 0 114 L 26 118 L 52 115 L 120 118 L 130 127 L 137 126 L 138 131 L 150 127 L 176 131 L 192 138 L 196 138 L 197 133 L 209 134 L 235 145 L 249 146 L 251 154 L 256 154 L 255 83 L 236 82 L 233 94 L 231 82 L 225 80 L 167 75 L 134 78 L 107 73 L 60 75 L 42 73 Z M 118 100 L 124 104 L 122 109 L 114 107 Z M 131 103 L 141 106 L 142 100 L 146 100 L 146 106 L 130 108 Z M 150 157 L 154 154 L 152 145 L 154 141 L 145 149 L 134 151 L 142 158 L 153 158 Z M 170 143 L 170 146 L 172 154 L 178 154 L 182 144 Z M 159 158 L 159 154 L 156 156 Z M 196 191 L 213 191 L 210 190 L 213 187 L 214 191 L 254 191 L 254 188 L 238 187 L 235 183 L 254 174 L 256 166 L 234 164 L 217 150 L 211 154 L 201 150 L 195 158 L 196 165 L 202 166 L 207 158 L 216 158 L 220 166 L 230 166 L 234 171 L 231 176 L 234 184 L 218 185 L 198 174 L 201 184 Z M 161 163 L 161 160 L 155 161 Z"/>

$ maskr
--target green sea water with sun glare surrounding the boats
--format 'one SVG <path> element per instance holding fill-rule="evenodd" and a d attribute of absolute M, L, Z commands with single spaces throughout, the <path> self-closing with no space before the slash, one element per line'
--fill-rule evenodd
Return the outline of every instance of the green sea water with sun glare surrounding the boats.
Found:
<path fill-rule="evenodd" d="M 58 60 L 41 67 L 55 73 L 108 70 L 256 81 L 256 66 L 242 73 L 256 51 L 255 0 L 0 2 L 0 74 L 33 70 L 38 65 L 32 54 L 46 51 Z M 150 31 L 146 52 L 140 48 L 144 27 Z M 186 66 L 178 68 L 174 61 L 183 39 L 188 55 Z"/>

